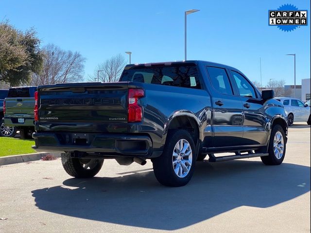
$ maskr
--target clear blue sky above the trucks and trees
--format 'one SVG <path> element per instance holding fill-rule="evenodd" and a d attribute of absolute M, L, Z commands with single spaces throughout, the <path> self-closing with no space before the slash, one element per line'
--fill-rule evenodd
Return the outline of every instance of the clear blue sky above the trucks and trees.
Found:
<path fill-rule="evenodd" d="M 240 69 L 262 83 L 310 78 L 310 18 L 292 32 L 268 26 L 268 10 L 282 4 L 307 9 L 307 0 L 0 0 L 0 20 L 17 29 L 35 27 L 42 45 L 54 43 L 86 57 L 85 76 L 113 55 L 132 51 L 132 63 L 184 59 L 184 11 L 188 16 L 188 60 L 207 60 Z"/>

